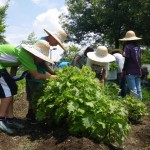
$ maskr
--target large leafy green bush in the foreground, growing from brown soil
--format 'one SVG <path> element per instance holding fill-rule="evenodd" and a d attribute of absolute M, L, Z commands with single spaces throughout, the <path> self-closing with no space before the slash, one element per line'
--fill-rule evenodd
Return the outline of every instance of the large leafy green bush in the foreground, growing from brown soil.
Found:
<path fill-rule="evenodd" d="M 59 77 L 47 80 L 37 96 L 37 118 L 64 123 L 71 134 L 122 144 L 130 129 L 128 111 L 102 92 L 95 73 L 84 66 L 81 70 L 64 67 L 57 74 Z"/>

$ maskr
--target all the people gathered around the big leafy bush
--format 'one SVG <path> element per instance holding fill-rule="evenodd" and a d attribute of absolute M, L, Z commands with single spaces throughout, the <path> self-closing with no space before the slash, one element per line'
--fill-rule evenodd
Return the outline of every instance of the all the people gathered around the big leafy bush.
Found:
<path fill-rule="evenodd" d="M 39 38 L 34 45 L 21 44 L 17 47 L 9 44 L 0 45 L 0 130 L 7 134 L 14 134 L 15 128 L 24 128 L 13 115 L 13 96 L 17 94 L 15 76 L 17 67 L 22 65 L 27 71 L 26 93 L 29 101 L 29 109 L 26 118 L 34 120 L 35 112 L 32 108 L 32 93 L 47 78 L 57 78 L 55 72 L 49 68 L 47 63 L 53 64 L 48 57 L 50 46 L 59 45 L 66 50 L 63 42 L 67 38 L 66 32 L 61 29 L 56 32 L 49 32 L 44 29 L 47 36 Z M 82 68 L 83 65 L 91 67 L 96 73 L 100 82 L 104 83 L 109 73 L 109 63 L 116 61 L 119 69 L 117 74 L 118 85 L 123 91 L 121 96 L 125 96 L 125 83 L 132 94 L 142 100 L 140 85 L 141 77 L 141 48 L 137 41 L 141 38 L 136 37 L 133 31 L 128 31 L 123 39 L 123 53 L 109 53 L 106 46 L 93 48 L 87 47 L 79 51 L 71 63 L 61 64 L 63 66 L 76 66 Z M 121 61 L 120 61 L 121 60 Z M 10 73 L 6 70 L 11 67 Z M 124 89 L 123 89 L 124 88 Z"/>

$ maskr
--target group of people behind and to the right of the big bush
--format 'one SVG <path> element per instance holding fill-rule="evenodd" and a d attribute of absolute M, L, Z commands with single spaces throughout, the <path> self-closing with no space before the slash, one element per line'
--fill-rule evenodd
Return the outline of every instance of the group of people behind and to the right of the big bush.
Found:
<path fill-rule="evenodd" d="M 120 96 L 125 97 L 127 88 L 129 88 L 132 96 L 142 100 L 142 50 L 138 44 L 139 40 L 141 38 L 137 37 L 135 32 L 130 30 L 124 38 L 119 39 L 119 41 L 124 42 L 122 51 L 119 49 L 108 51 L 105 46 L 98 46 L 96 51 L 91 48 L 91 51 L 86 53 L 87 48 L 84 51 L 79 51 L 74 56 L 71 64 L 79 68 L 83 64 L 91 67 L 100 82 L 104 82 L 107 80 L 110 63 L 116 61 L 118 64 L 116 83 L 121 89 Z M 87 57 L 86 63 L 84 62 L 85 57 Z"/>

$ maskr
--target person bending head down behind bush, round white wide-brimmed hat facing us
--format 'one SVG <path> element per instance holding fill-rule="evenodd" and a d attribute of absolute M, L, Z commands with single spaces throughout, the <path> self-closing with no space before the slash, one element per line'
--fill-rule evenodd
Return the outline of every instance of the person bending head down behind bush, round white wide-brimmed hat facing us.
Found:
<path fill-rule="evenodd" d="M 87 53 L 88 59 L 86 66 L 96 73 L 100 82 L 104 82 L 109 70 L 109 62 L 115 61 L 115 57 L 108 53 L 105 46 L 98 46 L 96 51 Z"/>

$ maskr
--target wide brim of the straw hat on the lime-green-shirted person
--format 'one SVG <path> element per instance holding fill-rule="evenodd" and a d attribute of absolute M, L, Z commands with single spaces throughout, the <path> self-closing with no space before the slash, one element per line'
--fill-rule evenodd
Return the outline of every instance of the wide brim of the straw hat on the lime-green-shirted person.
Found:
<path fill-rule="evenodd" d="M 21 44 L 21 47 L 33 54 L 34 56 L 37 56 L 44 61 L 54 64 L 54 62 L 50 58 L 38 52 L 32 45 Z"/>

